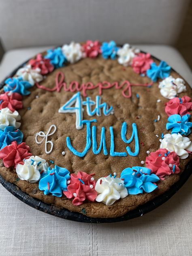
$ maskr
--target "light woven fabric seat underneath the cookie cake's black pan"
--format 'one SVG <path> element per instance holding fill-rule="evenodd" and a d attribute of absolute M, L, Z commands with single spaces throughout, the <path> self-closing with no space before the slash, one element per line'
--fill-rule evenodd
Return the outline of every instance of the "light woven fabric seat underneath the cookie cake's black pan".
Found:
<path fill-rule="evenodd" d="M 138 46 L 166 60 L 188 83 L 190 69 L 171 47 Z M 9 51 L 0 80 L 21 62 L 47 49 Z M 0 256 L 190 256 L 192 177 L 166 203 L 140 218 L 116 224 L 62 220 L 19 201 L 0 185 Z"/>

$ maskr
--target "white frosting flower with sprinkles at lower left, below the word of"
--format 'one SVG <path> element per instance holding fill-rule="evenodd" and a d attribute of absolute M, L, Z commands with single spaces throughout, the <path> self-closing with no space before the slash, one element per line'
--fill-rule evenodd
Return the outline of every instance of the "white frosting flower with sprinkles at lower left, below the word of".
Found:
<path fill-rule="evenodd" d="M 41 173 L 47 173 L 48 163 L 39 156 L 31 156 L 23 160 L 24 164 L 17 164 L 16 173 L 21 180 L 26 180 L 31 183 L 38 181 L 41 178 Z"/>

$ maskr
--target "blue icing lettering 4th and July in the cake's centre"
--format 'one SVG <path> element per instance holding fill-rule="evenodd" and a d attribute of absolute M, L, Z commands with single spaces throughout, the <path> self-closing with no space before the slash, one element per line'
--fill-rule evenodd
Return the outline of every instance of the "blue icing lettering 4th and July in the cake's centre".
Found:
<path fill-rule="evenodd" d="M 75 107 L 72 107 L 75 105 Z M 93 120 L 83 120 L 83 106 L 86 106 L 87 115 L 89 116 L 101 116 L 101 109 L 103 110 L 104 115 L 110 115 L 113 114 L 113 107 L 109 107 L 106 102 L 101 103 L 101 97 L 96 96 L 96 102 L 94 102 L 90 97 L 87 97 L 85 101 L 82 100 L 80 92 L 77 92 L 68 100 L 62 107 L 59 109 L 59 113 L 76 113 L 76 128 L 78 130 L 83 128 L 83 125 L 86 124 L 87 126 L 87 135 L 86 135 L 86 146 L 85 149 L 82 152 L 77 151 L 71 144 L 70 137 L 66 138 L 66 145 L 68 149 L 76 156 L 84 157 L 87 152 L 89 151 L 91 144 L 92 144 L 92 151 L 94 154 L 99 154 L 101 152 L 101 149 L 103 148 L 103 153 L 107 156 L 107 147 L 106 147 L 106 138 L 105 138 L 105 127 L 102 127 L 101 129 L 101 139 L 100 139 L 100 145 L 97 149 L 97 140 L 96 140 L 96 126 L 92 127 L 91 130 L 91 123 L 97 122 L 96 119 Z M 92 110 L 92 107 L 94 106 L 94 110 Z M 124 122 L 122 124 L 122 130 L 121 130 L 121 137 L 122 140 L 130 144 L 133 139 L 135 139 L 135 151 L 132 152 L 130 147 L 127 146 L 126 150 L 127 152 L 116 152 L 115 151 L 115 142 L 114 142 L 114 132 L 113 127 L 110 128 L 110 134 L 111 134 L 111 146 L 110 146 L 110 155 L 111 156 L 127 156 L 128 154 L 130 156 L 137 156 L 139 154 L 139 137 L 138 137 L 138 131 L 137 131 L 137 125 L 132 124 L 132 136 L 130 139 L 126 139 L 126 132 L 127 132 L 127 124 Z M 92 141 L 91 141 L 92 138 Z M 128 154 L 127 154 L 128 153 Z"/>

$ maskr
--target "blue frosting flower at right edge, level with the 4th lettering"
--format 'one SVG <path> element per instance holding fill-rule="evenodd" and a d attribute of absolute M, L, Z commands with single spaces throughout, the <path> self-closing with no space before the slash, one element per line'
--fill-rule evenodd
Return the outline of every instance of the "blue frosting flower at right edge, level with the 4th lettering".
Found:
<path fill-rule="evenodd" d="M 189 122 L 191 115 L 170 115 L 168 118 L 169 123 L 166 124 L 166 129 L 172 129 L 171 134 L 180 133 L 181 135 L 189 135 L 191 133 L 192 123 Z"/>

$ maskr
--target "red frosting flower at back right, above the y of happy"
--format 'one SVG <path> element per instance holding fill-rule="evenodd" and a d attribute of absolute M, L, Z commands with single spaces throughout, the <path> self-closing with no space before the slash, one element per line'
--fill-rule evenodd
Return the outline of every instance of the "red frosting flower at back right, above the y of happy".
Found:
<path fill-rule="evenodd" d="M 145 74 L 153 62 L 149 53 L 139 53 L 133 58 L 132 67 L 135 73 Z"/>

